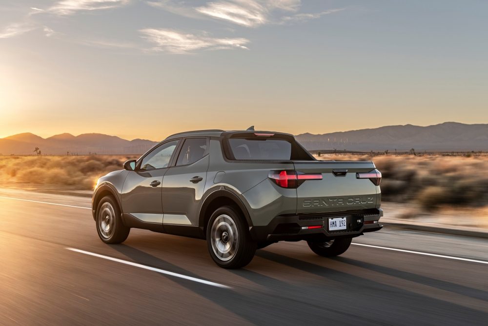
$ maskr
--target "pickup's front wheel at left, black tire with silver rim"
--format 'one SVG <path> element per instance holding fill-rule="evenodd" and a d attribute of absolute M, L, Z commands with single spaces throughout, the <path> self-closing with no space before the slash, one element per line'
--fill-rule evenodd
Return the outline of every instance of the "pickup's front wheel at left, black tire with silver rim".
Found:
<path fill-rule="evenodd" d="M 98 203 L 95 222 L 98 236 L 105 243 L 121 243 L 129 236 L 130 228 L 123 225 L 121 210 L 112 196 Z"/>

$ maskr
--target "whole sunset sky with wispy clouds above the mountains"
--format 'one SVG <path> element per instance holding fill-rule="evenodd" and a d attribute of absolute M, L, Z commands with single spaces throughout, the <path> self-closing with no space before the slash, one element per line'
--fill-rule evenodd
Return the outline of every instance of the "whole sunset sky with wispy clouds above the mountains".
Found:
<path fill-rule="evenodd" d="M 488 123 L 488 1 L 2 0 L 0 137 Z"/>

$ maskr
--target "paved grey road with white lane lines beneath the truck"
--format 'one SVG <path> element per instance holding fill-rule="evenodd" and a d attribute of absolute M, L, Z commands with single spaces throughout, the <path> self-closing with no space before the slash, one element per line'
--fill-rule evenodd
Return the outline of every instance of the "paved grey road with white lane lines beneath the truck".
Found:
<path fill-rule="evenodd" d="M 83 197 L 0 190 L 0 325 L 486 325 L 488 319 L 483 239 L 382 230 L 355 239 L 334 259 L 314 255 L 303 242 L 282 242 L 231 271 L 211 261 L 203 240 L 132 230 L 123 244 L 106 245 L 86 207 Z"/>

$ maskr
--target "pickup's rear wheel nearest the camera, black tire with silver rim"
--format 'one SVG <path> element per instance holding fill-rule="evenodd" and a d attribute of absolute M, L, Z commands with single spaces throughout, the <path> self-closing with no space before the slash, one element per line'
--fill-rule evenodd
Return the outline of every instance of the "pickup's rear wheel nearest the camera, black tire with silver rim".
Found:
<path fill-rule="evenodd" d="M 213 261 L 227 269 L 247 265 L 256 252 L 247 223 L 238 209 L 223 206 L 208 220 L 207 248 Z"/>

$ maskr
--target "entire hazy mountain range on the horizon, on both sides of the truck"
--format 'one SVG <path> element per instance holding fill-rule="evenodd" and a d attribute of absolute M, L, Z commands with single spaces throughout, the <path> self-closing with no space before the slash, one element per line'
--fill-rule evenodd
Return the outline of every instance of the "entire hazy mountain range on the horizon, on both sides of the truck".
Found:
<path fill-rule="evenodd" d="M 307 150 L 385 151 L 487 151 L 488 124 L 467 125 L 446 122 L 421 127 L 386 126 L 324 134 L 302 133 L 297 140 Z M 0 138 L 0 154 L 140 154 L 157 142 L 147 139 L 126 140 L 101 133 L 74 136 L 62 133 L 42 138 L 33 133 L 20 133 Z"/>

